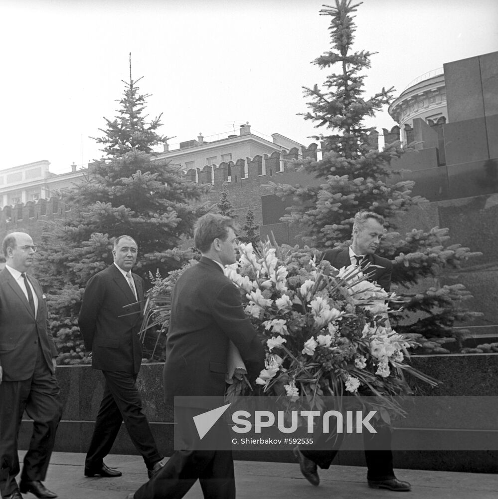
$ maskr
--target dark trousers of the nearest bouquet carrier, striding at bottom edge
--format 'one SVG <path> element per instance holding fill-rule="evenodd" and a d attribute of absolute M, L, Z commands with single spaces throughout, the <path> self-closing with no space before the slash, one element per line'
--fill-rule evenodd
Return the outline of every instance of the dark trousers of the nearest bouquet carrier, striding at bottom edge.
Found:
<path fill-rule="evenodd" d="M 232 451 L 224 450 L 230 448 L 226 423 L 218 420 L 203 438 L 201 449 L 195 450 L 199 436 L 192 417 L 204 411 L 175 407 L 174 431 L 180 433 L 179 437 L 175 434 L 175 446 L 184 449 L 175 450 L 159 473 L 135 493 L 135 499 L 180 499 L 197 480 L 204 499 L 235 499 Z"/>

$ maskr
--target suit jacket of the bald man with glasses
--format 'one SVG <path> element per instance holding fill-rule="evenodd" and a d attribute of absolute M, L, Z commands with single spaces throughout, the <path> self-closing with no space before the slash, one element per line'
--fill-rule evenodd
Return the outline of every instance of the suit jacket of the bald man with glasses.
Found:
<path fill-rule="evenodd" d="M 53 373 L 57 356 L 54 339 L 47 330 L 47 306 L 38 281 L 28 276 L 38 297 L 36 317 L 8 269 L 0 272 L 0 365 L 5 381 L 29 379 L 34 372 L 38 348 Z"/>

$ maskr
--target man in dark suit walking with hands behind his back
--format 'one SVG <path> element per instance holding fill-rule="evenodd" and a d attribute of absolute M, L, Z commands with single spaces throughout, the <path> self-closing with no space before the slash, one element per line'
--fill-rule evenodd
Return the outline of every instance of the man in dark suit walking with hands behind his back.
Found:
<path fill-rule="evenodd" d="M 114 242 L 114 263 L 91 277 L 83 294 L 78 324 L 92 367 L 104 374 L 104 395 L 85 460 L 87 477 L 119 477 L 104 464 L 124 421 L 130 438 L 144 458 L 149 477 L 165 463 L 142 410 L 136 380 L 142 362 L 139 338 L 144 290 L 131 272 L 137 243 L 130 236 Z"/>

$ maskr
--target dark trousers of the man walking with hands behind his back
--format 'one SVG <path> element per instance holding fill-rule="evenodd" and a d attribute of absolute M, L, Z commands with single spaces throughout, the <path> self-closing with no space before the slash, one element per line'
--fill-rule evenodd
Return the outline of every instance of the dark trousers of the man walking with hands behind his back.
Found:
<path fill-rule="evenodd" d="M 121 423 L 124 421 L 128 434 L 137 451 L 144 458 L 148 469 L 161 461 L 156 442 L 142 410 L 142 399 L 137 388 L 137 374 L 102 371 L 106 379 L 104 395 L 88 449 L 85 466 L 99 467 L 111 452 Z"/>

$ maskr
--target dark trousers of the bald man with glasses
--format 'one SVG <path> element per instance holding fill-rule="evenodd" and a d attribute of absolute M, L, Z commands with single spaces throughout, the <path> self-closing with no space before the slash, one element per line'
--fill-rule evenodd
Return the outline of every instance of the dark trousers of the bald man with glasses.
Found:
<path fill-rule="evenodd" d="M 3 381 L 0 401 L 0 493 L 5 497 L 18 489 L 17 445 L 24 411 L 33 420 L 33 433 L 24 456 L 21 481 L 45 480 L 62 416 L 60 388 L 41 348 L 33 376 L 23 381 Z"/>

